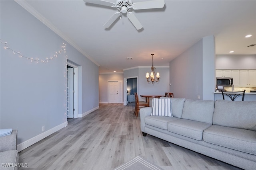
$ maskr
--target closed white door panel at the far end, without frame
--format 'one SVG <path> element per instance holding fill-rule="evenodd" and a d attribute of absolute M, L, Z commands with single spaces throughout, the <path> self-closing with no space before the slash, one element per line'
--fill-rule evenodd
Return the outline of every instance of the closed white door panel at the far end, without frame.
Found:
<path fill-rule="evenodd" d="M 108 103 L 118 103 L 118 81 L 108 82 Z"/>

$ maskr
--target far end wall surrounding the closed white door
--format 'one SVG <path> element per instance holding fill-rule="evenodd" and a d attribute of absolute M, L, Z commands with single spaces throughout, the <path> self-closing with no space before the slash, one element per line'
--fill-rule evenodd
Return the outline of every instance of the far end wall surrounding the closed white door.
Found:
<path fill-rule="evenodd" d="M 99 102 L 108 103 L 108 81 L 109 80 L 122 80 L 124 84 L 123 74 L 99 74 Z M 122 96 L 124 98 L 124 96 Z M 123 101 L 124 102 L 124 101 Z"/>

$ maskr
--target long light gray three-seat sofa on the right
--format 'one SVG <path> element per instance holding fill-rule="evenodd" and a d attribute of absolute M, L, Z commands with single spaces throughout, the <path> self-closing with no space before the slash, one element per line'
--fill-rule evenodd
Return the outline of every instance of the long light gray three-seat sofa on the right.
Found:
<path fill-rule="evenodd" d="M 246 170 L 256 169 L 256 101 L 172 98 L 173 117 L 140 109 L 147 134 Z"/>

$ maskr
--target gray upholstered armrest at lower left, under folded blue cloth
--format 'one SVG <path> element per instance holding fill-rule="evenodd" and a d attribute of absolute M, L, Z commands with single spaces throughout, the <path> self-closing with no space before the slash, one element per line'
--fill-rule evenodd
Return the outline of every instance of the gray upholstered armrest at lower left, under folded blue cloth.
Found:
<path fill-rule="evenodd" d="M 17 150 L 17 130 L 12 130 L 11 135 L 0 137 L 0 152 Z"/>

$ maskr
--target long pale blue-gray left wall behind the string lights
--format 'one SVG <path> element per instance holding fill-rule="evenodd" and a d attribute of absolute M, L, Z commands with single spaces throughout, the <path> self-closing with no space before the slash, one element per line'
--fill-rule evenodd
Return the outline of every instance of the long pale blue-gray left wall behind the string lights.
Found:
<path fill-rule="evenodd" d="M 14 1 L 0 1 L 1 41 L 26 57 L 50 58 L 64 40 Z M 80 113 L 98 107 L 98 66 L 67 44 L 80 65 Z M 66 58 L 30 62 L 1 44 L 0 128 L 18 129 L 18 144 L 66 122 Z M 90 78 L 87 75 L 90 75 Z M 88 81 L 90 80 L 90 81 Z"/>

